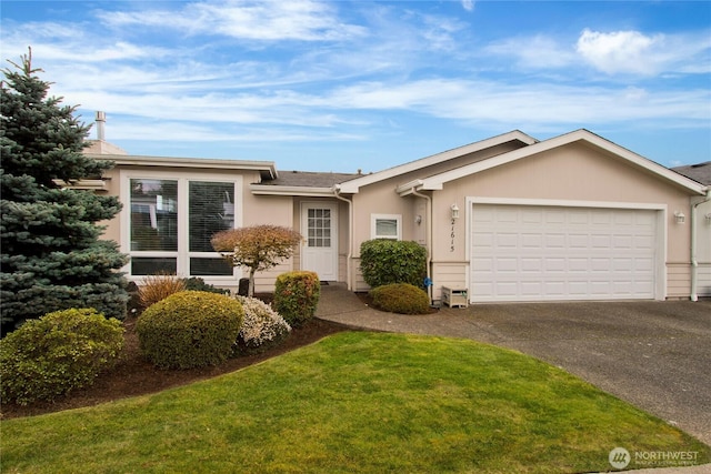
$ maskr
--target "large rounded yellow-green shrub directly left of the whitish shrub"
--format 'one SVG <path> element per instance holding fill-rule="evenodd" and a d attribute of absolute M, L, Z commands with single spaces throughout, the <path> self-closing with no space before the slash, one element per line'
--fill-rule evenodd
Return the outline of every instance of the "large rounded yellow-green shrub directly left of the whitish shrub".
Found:
<path fill-rule="evenodd" d="M 229 296 L 181 291 L 143 311 L 136 331 L 141 352 L 158 367 L 202 367 L 230 356 L 243 317 Z"/>

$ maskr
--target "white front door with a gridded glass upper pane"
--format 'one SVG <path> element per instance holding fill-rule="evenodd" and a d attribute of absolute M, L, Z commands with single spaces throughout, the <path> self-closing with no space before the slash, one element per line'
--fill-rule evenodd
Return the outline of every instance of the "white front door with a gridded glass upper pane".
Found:
<path fill-rule="evenodd" d="M 301 204 L 301 270 L 316 272 L 321 281 L 338 281 L 338 206 L 336 203 Z"/>

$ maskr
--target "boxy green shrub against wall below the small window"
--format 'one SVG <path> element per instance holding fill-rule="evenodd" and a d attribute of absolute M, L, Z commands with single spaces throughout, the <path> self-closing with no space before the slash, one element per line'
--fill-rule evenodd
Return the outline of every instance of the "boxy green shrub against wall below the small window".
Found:
<path fill-rule="evenodd" d="M 391 283 L 422 286 L 427 249 L 412 241 L 368 240 L 360 245 L 360 271 L 370 288 Z"/>

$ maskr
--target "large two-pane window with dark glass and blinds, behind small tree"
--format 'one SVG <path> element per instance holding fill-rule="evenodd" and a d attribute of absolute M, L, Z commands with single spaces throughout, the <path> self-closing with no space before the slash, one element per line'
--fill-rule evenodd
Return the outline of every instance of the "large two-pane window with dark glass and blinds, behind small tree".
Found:
<path fill-rule="evenodd" d="M 210 239 L 236 226 L 239 179 L 141 175 L 128 179 L 130 275 L 233 278 Z"/>

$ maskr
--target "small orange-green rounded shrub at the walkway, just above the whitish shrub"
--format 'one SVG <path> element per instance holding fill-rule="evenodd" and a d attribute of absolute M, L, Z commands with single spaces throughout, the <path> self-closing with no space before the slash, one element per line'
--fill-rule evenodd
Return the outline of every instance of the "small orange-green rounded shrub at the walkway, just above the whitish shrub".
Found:
<path fill-rule="evenodd" d="M 274 310 L 294 327 L 316 314 L 321 296 L 321 282 L 314 272 L 287 272 L 277 276 Z"/>

